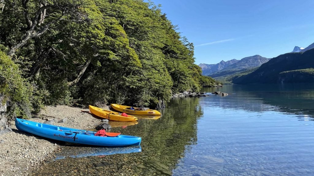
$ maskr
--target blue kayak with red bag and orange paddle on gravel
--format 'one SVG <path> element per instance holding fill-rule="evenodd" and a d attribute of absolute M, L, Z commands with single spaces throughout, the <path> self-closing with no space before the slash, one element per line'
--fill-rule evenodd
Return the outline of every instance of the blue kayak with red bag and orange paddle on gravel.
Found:
<path fill-rule="evenodd" d="M 58 127 L 16 118 L 15 126 L 18 130 L 29 132 L 37 136 L 64 142 L 72 142 L 95 146 L 138 146 L 141 137 L 118 135 L 116 137 L 94 136 L 96 132 Z"/>

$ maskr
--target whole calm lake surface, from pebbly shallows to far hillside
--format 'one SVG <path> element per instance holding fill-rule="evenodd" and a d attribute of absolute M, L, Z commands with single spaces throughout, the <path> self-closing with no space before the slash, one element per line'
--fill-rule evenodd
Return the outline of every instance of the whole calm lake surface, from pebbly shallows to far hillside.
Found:
<path fill-rule="evenodd" d="M 159 119 L 113 128 L 141 148 L 65 145 L 33 175 L 314 175 L 314 85 L 203 91 L 230 95 L 171 100 Z"/>

